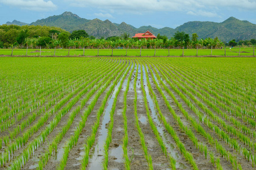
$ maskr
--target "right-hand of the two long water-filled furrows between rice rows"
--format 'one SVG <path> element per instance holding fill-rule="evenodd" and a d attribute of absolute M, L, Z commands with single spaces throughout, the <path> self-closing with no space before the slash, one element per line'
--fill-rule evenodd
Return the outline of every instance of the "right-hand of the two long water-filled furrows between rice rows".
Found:
<path fill-rule="evenodd" d="M 148 67 L 144 67 L 142 66 L 143 71 L 148 71 Z M 145 72 L 144 72 L 145 73 Z M 149 73 L 149 71 L 148 71 Z M 154 75 L 154 78 L 156 79 L 156 76 Z M 156 79 L 157 81 L 157 79 Z M 152 82 L 152 78 L 149 76 L 149 82 Z M 158 133 L 160 133 L 163 143 L 166 146 L 167 151 L 170 153 L 170 155 L 176 160 L 176 168 L 180 168 L 180 169 L 187 169 L 186 165 L 184 165 L 184 163 L 179 162 L 179 154 L 178 152 L 175 150 L 175 147 L 173 145 L 173 143 L 170 143 L 170 139 L 168 139 L 167 134 L 165 133 L 165 129 L 163 127 L 163 125 L 161 124 L 160 121 L 160 117 L 157 114 L 157 109 L 154 106 L 154 101 L 152 96 L 150 96 L 149 94 L 149 89 L 148 89 L 148 83 L 146 82 L 146 74 L 143 74 L 143 83 L 144 83 L 144 88 L 145 88 L 145 92 L 146 92 L 146 99 L 148 100 L 149 103 L 149 108 L 151 111 L 151 116 L 153 121 L 155 122 L 155 124 L 157 125 L 157 130 Z M 158 83 L 158 82 L 157 82 Z"/>

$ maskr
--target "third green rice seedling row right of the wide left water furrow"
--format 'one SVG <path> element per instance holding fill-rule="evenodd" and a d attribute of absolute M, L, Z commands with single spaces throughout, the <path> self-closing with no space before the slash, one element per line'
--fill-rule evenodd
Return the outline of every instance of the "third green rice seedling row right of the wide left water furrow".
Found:
<path fill-rule="evenodd" d="M 140 67 L 140 74 L 142 74 L 142 73 L 141 73 L 141 66 L 139 65 L 139 63 L 137 61 L 136 61 L 136 65 L 137 65 L 137 70 L 136 70 L 135 80 L 134 80 L 134 83 L 133 83 L 133 88 L 134 88 L 134 92 L 135 92 L 135 99 L 133 100 L 134 114 L 135 114 L 135 123 L 136 123 L 137 131 L 138 131 L 139 136 L 140 136 L 141 147 L 142 147 L 142 150 L 144 151 L 144 157 L 145 157 L 145 159 L 146 159 L 146 161 L 148 163 L 148 168 L 149 169 L 153 169 L 152 157 L 151 157 L 151 155 L 148 152 L 148 147 L 147 147 L 146 142 L 145 142 L 144 134 L 143 134 L 143 132 L 142 132 L 142 130 L 140 128 L 139 118 L 138 118 L 138 115 L 137 115 L 137 91 L 136 91 L 136 84 L 137 84 L 137 76 L 138 76 L 139 67 Z"/>

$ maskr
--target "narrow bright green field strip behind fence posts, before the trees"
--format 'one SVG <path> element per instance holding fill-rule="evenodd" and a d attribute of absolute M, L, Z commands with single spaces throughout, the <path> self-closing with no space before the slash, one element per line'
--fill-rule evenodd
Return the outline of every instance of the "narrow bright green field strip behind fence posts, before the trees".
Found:
<path fill-rule="evenodd" d="M 239 51 L 241 52 L 239 54 Z M 68 49 L 56 49 L 55 56 L 68 56 Z M 13 56 L 40 56 L 40 49 L 14 49 Z M 256 53 L 256 52 L 255 52 Z M 99 56 L 111 56 L 112 49 L 99 49 Z M 0 55 L 11 55 L 11 49 L 0 49 Z M 83 56 L 83 49 L 70 49 L 70 56 Z M 168 49 L 157 49 L 156 56 L 168 56 Z M 225 50 L 213 49 L 212 56 L 224 56 Z M 253 47 L 226 48 L 226 56 L 253 56 Z M 256 55 L 256 54 L 254 54 Z M 54 56 L 54 49 L 41 49 L 41 56 Z M 85 56 L 98 56 L 98 49 L 85 49 Z M 126 49 L 114 49 L 113 56 L 126 56 Z M 128 49 L 127 56 L 140 56 L 140 49 Z M 142 49 L 141 56 L 154 56 L 154 49 Z M 170 56 L 182 56 L 182 49 L 170 49 Z M 196 49 L 184 49 L 184 56 L 196 56 Z M 211 56 L 211 49 L 198 49 L 198 56 Z"/>

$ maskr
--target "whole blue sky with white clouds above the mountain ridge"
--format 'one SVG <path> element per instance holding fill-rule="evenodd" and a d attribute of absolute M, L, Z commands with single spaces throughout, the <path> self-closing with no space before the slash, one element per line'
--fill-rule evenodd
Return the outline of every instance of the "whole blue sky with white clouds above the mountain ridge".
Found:
<path fill-rule="evenodd" d="M 230 16 L 256 24 L 256 0 L 0 0 L 0 25 L 61 15 L 125 22 L 136 28 L 176 28 L 190 21 L 223 22 Z"/>

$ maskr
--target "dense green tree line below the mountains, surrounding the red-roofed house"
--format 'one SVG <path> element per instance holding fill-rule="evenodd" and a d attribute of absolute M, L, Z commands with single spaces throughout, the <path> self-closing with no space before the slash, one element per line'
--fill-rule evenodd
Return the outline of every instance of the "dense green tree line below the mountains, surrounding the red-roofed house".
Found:
<path fill-rule="evenodd" d="M 215 39 L 198 39 L 196 33 L 190 37 L 185 32 L 175 32 L 171 39 L 157 35 L 157 39 L 131 38 L 128 33 L 120 37 L 112 36 L 95 39 L 84 30 L 69 33 L 58 27 L 41 25 L 0 25 L 0 48 L 222 48 L 225 45 L 255 45 L 256 40 L 228 43 Z"/>

